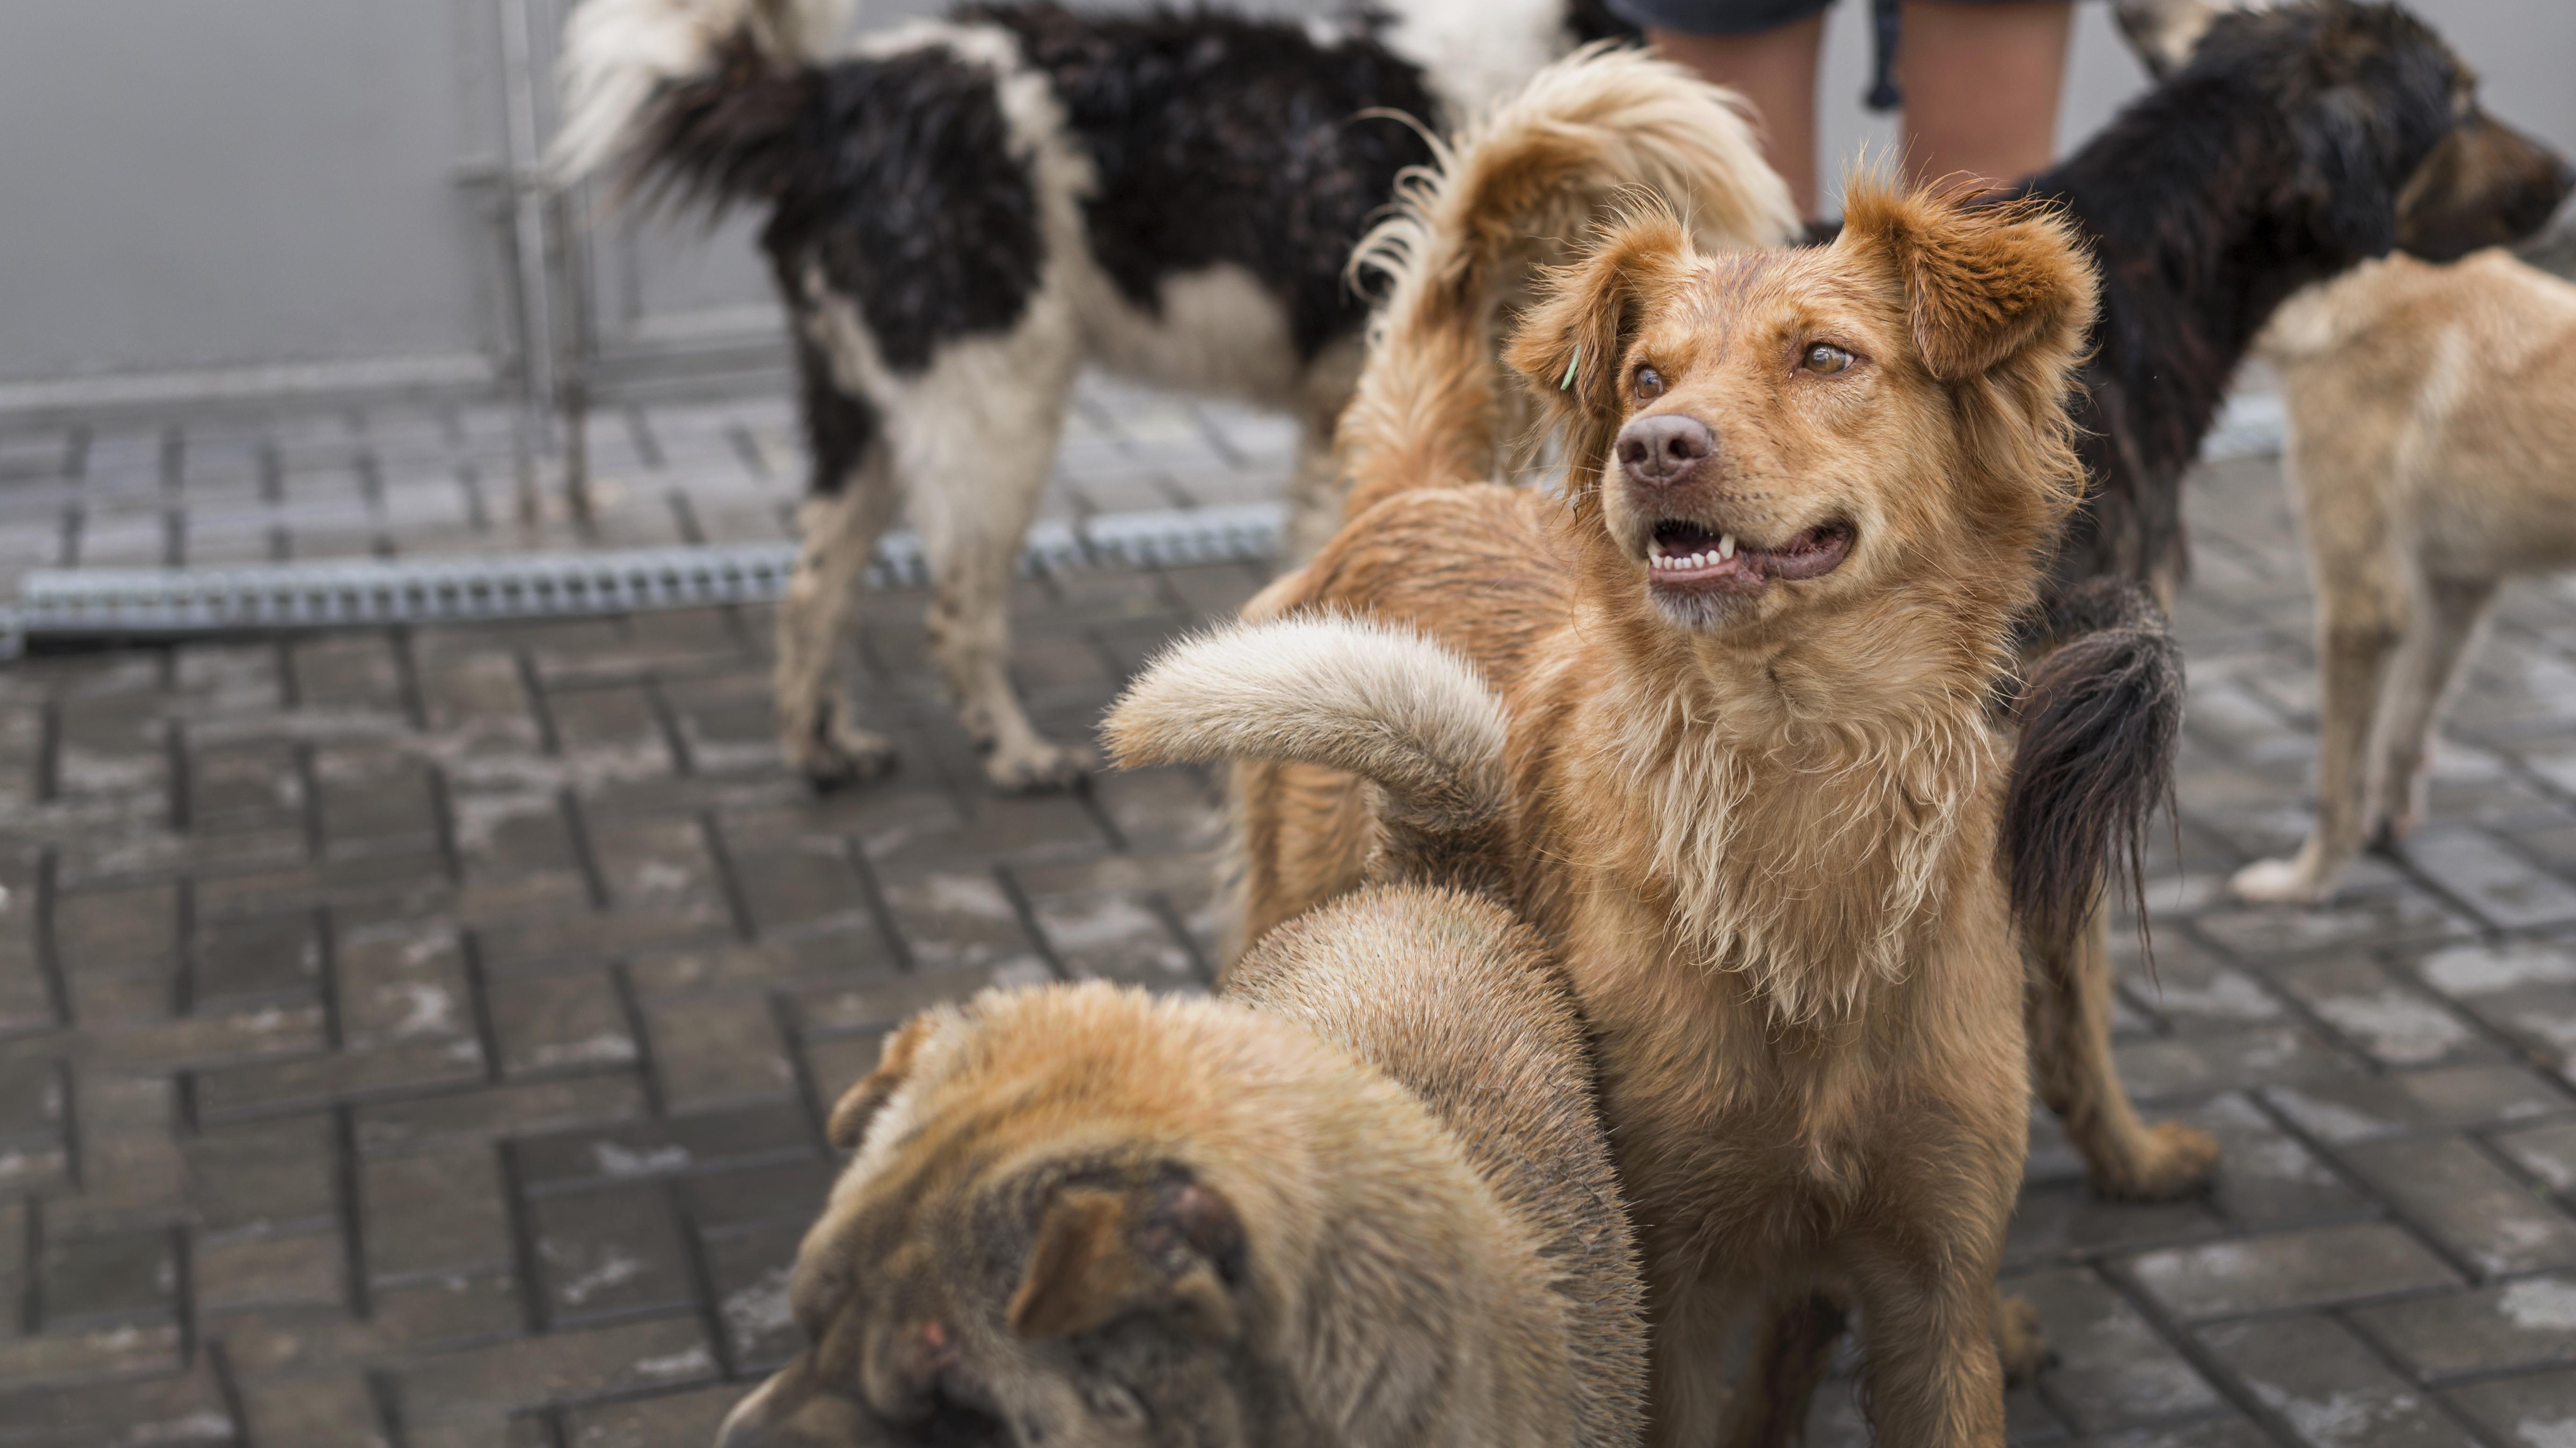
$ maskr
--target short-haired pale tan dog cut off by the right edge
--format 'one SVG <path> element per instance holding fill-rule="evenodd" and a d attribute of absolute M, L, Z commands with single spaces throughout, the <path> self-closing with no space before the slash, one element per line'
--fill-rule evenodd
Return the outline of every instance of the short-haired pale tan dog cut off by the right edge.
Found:
<path fill-rule="evenodd" d="M 2427 745 L 2496 585 L 2576 564 L 2576 286 L 2501 250 L 2393 255 L 2262 338 L 2316 575 L 2316 830 L 2231 881 L 2321 899 L 2424 819 Z"/>

